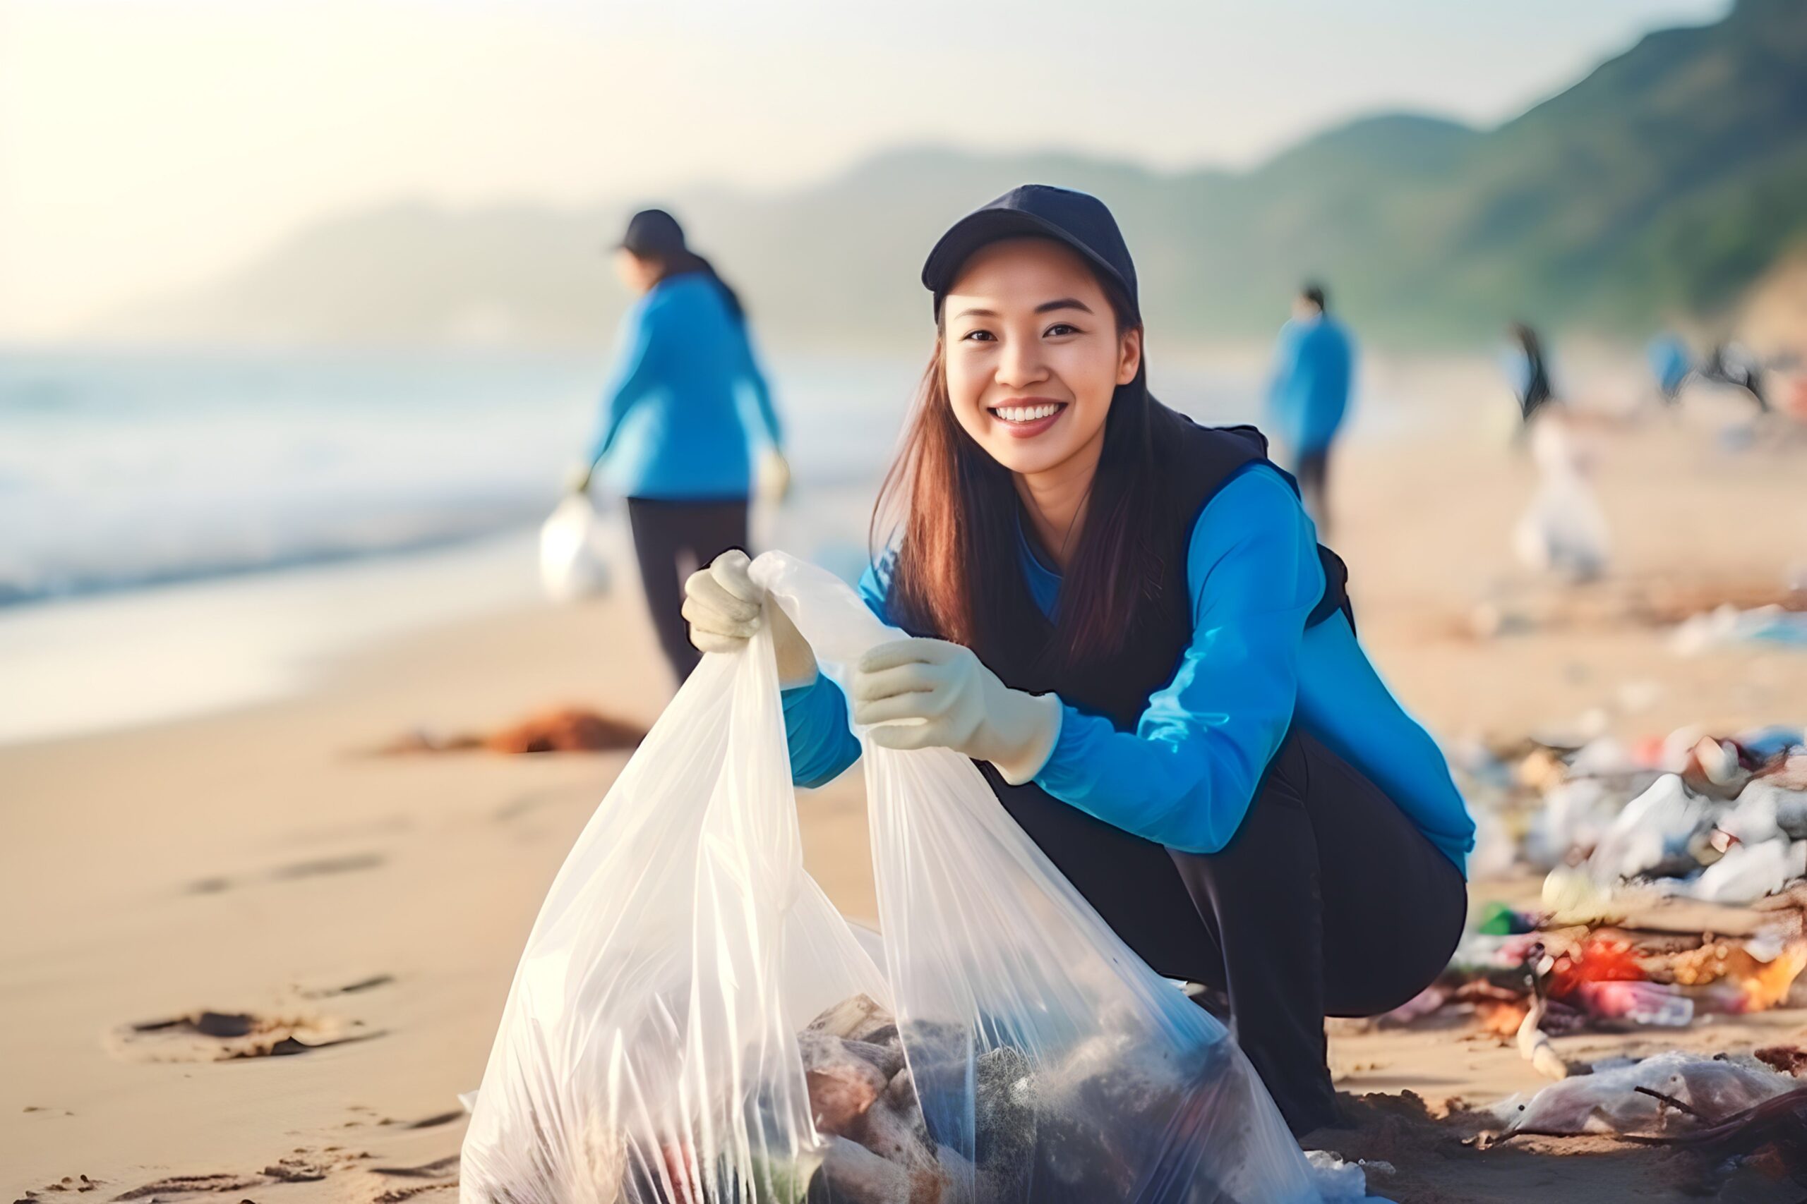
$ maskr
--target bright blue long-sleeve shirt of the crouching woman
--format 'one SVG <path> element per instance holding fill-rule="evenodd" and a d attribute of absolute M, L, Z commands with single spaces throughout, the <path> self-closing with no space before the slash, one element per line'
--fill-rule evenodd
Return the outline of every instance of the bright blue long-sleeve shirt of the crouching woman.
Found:
<path fill-rule="evenodd" d="M 1030 594 L 1053 614 L 1061 578 L 1021 542 Z M 889 565 L 860 594 L 885 619 Z M 1193 639 L 1137 729 L 1066 704 L 1035 783 L 1106 823 L 1185 852 L 1229 843 L 1292 724 L 1379 785 L 1465 866 L 1475 821 L 1442 751 L 1393 699 L 1343 614 L 1306 630 L 1323 596 L 1317 533 L 1292 489 L 1250 466 L 1205 505 L 1187 547 Z M 828 677 L 784 691 L 791 774 L 822 785 L 860 755 Z"/>

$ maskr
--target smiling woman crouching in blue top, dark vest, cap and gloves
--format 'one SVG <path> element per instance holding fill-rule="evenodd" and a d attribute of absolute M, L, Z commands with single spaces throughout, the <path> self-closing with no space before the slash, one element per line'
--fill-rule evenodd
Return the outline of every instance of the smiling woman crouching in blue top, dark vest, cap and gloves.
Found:
<path fill-rule="evenodd" d="M 842 691 L 773 612 L 791 773 L 853 764 L 849 702 L 882 746 L 974 758 L 1131 949 L 1229 1007 L 1294 1130 L 1332 1123 L 1325 1014 L 1409 1000 L 1462 933 L 1475 825 L 1447 765 L 1261 435 L 1149 395 L 1097 199 L 1017 188 L 941 236 L 923 283 L 934 357 L 860 585 L 914 637 Z M 687 590 L 699 648 L 763 621 L 739 554 Z"/>

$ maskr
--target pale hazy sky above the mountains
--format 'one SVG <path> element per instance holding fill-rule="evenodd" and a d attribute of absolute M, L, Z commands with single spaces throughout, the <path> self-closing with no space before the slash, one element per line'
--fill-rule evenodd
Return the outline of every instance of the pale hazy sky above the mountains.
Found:
<path fill-rule="evenodd" d="M 0 0 L 0 338 L 399 197 L 781 188 L 896 143 L 1245 164 L 1512 116 L 1727 0 Z"/>

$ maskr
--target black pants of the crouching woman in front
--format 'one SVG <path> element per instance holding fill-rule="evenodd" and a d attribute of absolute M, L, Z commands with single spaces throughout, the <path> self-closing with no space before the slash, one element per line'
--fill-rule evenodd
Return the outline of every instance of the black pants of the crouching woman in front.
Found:
<path fill-rule="evenodd" d="M 1462 937 L 1462 872 L 1299 729 L 1216 854 L 1162 848 L 1039 791 L 1001 796 L 1149 966 L 1229 998 L 1231 1031 L 1296 1134 L 1337 1119 L 1325 1016 L 1404 1004 Z"/>

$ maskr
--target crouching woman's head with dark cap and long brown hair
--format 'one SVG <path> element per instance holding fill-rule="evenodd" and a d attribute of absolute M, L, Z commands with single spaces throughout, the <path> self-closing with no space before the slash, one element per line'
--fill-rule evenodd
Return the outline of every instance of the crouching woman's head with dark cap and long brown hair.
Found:
<path fill-rule="evenodd" d="M 1079 197 L 1017 193 L 1063 211 Z M 1135 597 L 1113 581 L 1151 572 L 1167 534 L 1167 516 L 1133 484 L 1155 469 L 1135 267 L 1115 222 L 1095 236 L 1122 267 L 1010 209 L 983 227 L 956 226 L 923 269 L 940 330 L 875 534 L 902 523 L 894 597 L 956 643 L 1001 634 L 1023 601 L 1014 574 L 969 572 L 1012 561 L 1019 513 L 1041 551 L 1072 570 L 1061 643 L 1077 657 L 1119 646 Z"/>

